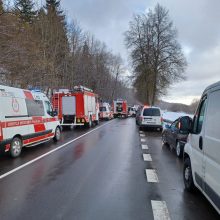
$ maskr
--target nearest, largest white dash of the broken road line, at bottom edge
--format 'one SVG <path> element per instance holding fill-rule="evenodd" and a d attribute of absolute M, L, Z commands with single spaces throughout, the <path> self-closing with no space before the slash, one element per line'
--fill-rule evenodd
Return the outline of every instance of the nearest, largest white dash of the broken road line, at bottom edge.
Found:
<path fill-rule="evenodd" d="M 154 220 L 170 220 L 170 215 L 165 201 L 151 200 Z"/>

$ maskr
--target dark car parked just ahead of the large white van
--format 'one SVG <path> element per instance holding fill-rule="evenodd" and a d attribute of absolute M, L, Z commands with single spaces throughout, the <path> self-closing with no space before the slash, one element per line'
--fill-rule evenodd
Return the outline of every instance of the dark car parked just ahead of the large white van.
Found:
<path fill-rule="evenodd" d="M 163 144 L 169 145 L 171 150 L 175 150 L 178 157 L 182 157 L 184 146 L 187 142 L 189 133 L 184 128 L 187 128 L 188 123 L 191 122 L 186 117 L 180 117 L 171 125 L 165 125 L 162 132 Z"/>

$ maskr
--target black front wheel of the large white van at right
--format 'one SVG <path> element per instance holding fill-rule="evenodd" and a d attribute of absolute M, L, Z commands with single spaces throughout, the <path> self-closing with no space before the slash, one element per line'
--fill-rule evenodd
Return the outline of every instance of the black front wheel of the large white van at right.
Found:
<path fill-rule="evenodd" d="M 189 158 L 186 158 L 184 160 L 183 179 L 184 179 L 185 189 L 188 192 L 193 192 L 194 189 L 195 189 L 195 185 L 194 185 L 194 182 L 193 182 L 192 168 L 191 168 L 191 162 L 190 162 Z"/>

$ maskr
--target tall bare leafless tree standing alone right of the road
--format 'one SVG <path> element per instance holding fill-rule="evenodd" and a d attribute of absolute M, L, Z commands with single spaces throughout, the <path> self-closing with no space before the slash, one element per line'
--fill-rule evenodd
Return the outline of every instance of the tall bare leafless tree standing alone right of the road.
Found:
<path fill-rule="evenodd" d="M 125 33 L 131 52 L 134 86 L 142 102 L 153 105 L 174 82 L 184 79 L 186 60 L 168 10 L 159 4 L 154 11 L 136 15 Z"/>

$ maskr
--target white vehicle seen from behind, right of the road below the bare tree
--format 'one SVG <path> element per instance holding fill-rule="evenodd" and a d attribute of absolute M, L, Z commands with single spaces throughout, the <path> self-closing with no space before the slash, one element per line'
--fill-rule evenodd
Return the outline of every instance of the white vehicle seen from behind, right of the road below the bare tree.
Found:
<path fill-rule="evenodd" d="M 140 128 L 156 128 L 162 131 L 163 119 L 160 108 L 142 106 L 138 109 L 136 114 L 136 124 Z"/>

